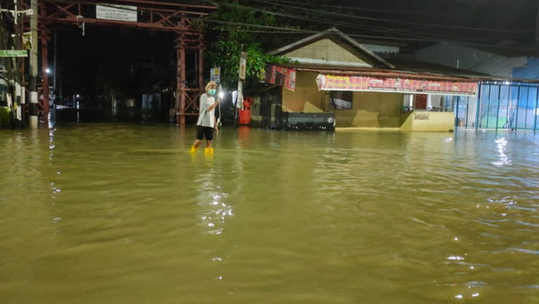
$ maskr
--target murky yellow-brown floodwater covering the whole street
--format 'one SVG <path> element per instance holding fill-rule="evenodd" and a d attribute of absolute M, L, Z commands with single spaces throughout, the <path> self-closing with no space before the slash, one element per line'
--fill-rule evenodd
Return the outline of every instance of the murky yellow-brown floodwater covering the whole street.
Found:
<path fill-rule="evenodd" d="M 0 130 L 3 303 L 537 303 L 539 134 Z"/>

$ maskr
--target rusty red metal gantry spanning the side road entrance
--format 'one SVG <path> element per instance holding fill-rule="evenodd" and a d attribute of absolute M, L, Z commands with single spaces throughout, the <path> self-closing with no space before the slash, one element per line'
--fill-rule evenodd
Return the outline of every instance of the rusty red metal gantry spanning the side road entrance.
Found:
<path fill-rule="evenodd" d="M 22 0 L 17 0 L 22 1 Z M 42 71 L 43 98 L 38 102 L 41 114 L 49 113 L 49 41 L 51 40 L 54 23 L 72 24 L 82 27 L 85 24 L 101 24 L 121 27 L 132 27 L 150 31 L 169 31 L 176 34 L 176 92 L 175 92 L 175 121 L 183 126 L 189 115 L 198 115 L 197 100 L 203 93 L 204 36 L 196 26 L 197 21 L 216 10 L 214 5 L 181 4 L 148 0 L 114 0 L 100 1 L 99 5 L 119 8 L 121 10 L 136 10 L 137 20 L 103 19 L 96 13 L 96 3 L 76 0 L 28 0 L 38 3 L 38 27 L 40 40 L 40 60 Z M 181 1 L 180 1 L 181 2 Z M 26 7 L 30 4 L 24 3 Z M 198 58 L 196 71 L 197 87 L 186 85 L 186 51 L 194 51 Z"/>

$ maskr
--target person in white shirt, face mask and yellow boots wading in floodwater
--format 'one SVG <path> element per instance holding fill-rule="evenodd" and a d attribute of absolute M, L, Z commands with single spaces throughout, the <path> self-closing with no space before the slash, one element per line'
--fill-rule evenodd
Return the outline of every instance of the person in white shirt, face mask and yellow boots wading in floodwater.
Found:
<path fill-rule="evenodd" d="M 216 126 L 216 113 L 214 112 L 217 104 L 221 102 L 216 99 L 217 84 L 213 81 L 206 85 L 206 93 L 200 96 L 199 121 L 197 121 L 197 139 L 193 142 L 190 152 L 195 153 L 199 149 L 199 145 L 203 139 L 206 139 L 205 154 L 213 154 L 211 142 L 214 138 Z"/>

